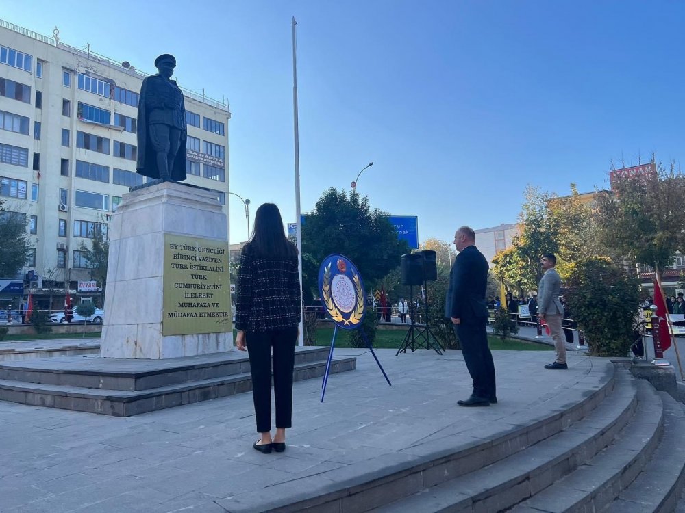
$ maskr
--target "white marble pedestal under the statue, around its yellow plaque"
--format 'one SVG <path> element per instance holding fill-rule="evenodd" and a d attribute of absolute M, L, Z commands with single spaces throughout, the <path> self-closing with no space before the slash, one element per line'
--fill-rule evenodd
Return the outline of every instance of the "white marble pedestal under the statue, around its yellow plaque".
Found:
<path fill-rule="evenodd" d="M 169 262 L 164 265 L 165 240 L 166 246 L 169 236 L 226 244 L 227 257 L 227 218 L 215 193 L 175 182 L 135 190 L 123 196 L 109 233 L 101 356 L 162 359 L 232 350 L 229 291 L 228 304 L 222 305 L 229 314 L 224 324 L 214 328 L 216 319 L 208 319 L 214 322 L 214 332 L 166 334 L 171 331 L 168 325 L 163 330 L 169 317 L 163 295 L 172 291 L 169 280 L 164 280 L 164 273 L 170 272 Z M 213 276 L 223 279 L 221 273 Z M 228 276 L 226 266 L 226 288 Z"/>

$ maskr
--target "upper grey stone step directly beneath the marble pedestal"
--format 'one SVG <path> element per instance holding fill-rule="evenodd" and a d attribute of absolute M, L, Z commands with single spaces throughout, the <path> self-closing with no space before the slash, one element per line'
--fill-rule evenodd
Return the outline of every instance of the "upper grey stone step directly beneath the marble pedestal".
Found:
<path fill-rule="evenodd" d="M 326 360 L 328 352 L 327 347 L 298 347 L 295 364 Z M 166 360 L 56 357 L 0 363 L 0 380 L 136 391 L 249 371 L 247 353 L 238 351 Z"/>

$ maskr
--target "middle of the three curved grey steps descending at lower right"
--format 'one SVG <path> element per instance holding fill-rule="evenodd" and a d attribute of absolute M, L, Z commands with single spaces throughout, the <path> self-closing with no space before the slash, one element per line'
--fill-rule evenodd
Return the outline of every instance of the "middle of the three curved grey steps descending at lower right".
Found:
<path fill-rule="evenodd" d="M 587 464 L 512 508 L 512 513 L 598 512 L 630 486 L 652 458 L 664 427 L 662 397 L 647 381 L 637 384 L 638 408 L 616 440 Z"/>

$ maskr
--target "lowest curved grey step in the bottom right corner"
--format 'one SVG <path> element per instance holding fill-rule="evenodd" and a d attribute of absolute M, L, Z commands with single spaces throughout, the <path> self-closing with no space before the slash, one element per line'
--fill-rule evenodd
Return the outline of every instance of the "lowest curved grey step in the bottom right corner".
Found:
<path fill-rule="evenodd" d="M 667 393 L 659 395 L 664 404 L 661 442 L 643 471 L 603 513 L 685 512 L 685 501 L 679 501 L 685 486 L 685 412 Z"/>

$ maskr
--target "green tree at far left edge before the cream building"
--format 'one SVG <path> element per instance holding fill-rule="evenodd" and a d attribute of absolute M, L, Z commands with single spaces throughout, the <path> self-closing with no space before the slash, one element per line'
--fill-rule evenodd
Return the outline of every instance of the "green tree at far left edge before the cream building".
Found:
<path fill-rule="evenodd" d="M 7 209 L 0 200 L 0 276 L 14 278 L 29 257 L 31 247 L 26 215 Z"/>

